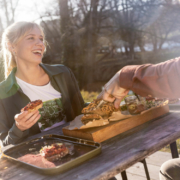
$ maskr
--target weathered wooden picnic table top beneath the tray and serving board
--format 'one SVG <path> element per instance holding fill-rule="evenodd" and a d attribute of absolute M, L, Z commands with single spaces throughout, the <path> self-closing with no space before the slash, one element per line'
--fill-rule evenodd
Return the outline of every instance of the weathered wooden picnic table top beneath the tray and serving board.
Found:
<path fill-rule="evenodd" d="M 61 128 L 63 126 L 37 134 L 29 139 L 40 137 L 44 134 L 62 135 Z M 159 151 L 164 146 L 171 144 L 179 137 L 180 110 L 176 110 L 102 142 L 101 154 L 62 174 L 43 175 L 30 170 L 22 164 L 2 158 L 0 160 L 0 179 L 109 179 L 133 164 L 142 161 L 154 152 Z"/>

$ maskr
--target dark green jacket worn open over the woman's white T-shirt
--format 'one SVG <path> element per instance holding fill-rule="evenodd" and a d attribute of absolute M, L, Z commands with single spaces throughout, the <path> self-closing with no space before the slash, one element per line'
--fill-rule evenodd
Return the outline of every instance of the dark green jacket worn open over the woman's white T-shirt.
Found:
<path fill-rule="evenodd" d="M 84 101 L 72 71 L 64 65 L 40 64 L 49 75 L 52 86 L 62 94 L 62 103 L 67 121 L 81 113 Z M 0 145 L 16 144 L 24 138 L 40 133 L 38 123 L 26 131 L 15 125 L 14 116 L 26 106 L 30 99 L 22 92 L 15 78 L 16 68 L 0 83 Z"/>

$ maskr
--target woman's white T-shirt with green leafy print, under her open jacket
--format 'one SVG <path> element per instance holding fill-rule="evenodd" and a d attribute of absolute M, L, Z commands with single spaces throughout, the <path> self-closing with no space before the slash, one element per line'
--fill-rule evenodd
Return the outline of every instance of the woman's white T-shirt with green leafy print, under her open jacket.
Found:
<path fill-rule="evenodd" d="M 43 107 L 39 109 L 41 118 L 38 125 L 41 131 L 46 131 L 65 123 L 65 113 L 61 101 L 61 93 L 56 91 L 51 83 L 44 86 L 35 86 L 16 77 L 18 85 L 23 93 L 31 101 L 42 100 Z"/>

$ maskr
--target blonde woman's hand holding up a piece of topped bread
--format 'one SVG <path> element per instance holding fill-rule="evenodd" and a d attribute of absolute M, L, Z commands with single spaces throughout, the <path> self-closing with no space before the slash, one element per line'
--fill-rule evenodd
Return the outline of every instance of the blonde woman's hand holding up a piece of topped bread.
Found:
<path fill-rule="evenodd" d="M 25 131 L 32 127 L 40 117 L 39 111 L 36 110 L 33 112 L 23 111 L 20 114 L 16 114 L 14 119 L 17 128 L 21 131 Z"/>

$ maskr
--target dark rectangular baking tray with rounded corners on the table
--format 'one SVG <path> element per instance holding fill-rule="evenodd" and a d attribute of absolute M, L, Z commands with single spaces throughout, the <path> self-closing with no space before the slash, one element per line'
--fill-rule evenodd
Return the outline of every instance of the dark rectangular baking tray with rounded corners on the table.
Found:
<path fill-rule="evenodd" d="M 68 154 L 55 162 L 47 161 L 39 154 L 43 146 L 61 142 L 73 148 L 72 154 Z M 91 159 L 100 152 L 100 143 L 69 136 L 49 134 L 4 150 L 3 157 L 25 164 L 39 173 L 56 174 L 65 172 Z"/>

